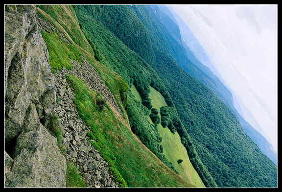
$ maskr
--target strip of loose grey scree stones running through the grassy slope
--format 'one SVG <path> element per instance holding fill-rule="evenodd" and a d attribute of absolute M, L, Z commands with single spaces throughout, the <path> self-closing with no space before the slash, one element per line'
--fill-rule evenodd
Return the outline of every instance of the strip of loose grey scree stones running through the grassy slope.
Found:
<path fill-rule="evenodd" d="M 71 46 L 53 24 L 38 18 L 39 28 L 46 32 L 57 32 L 64 43 Z M 88 187 L 118 187 L 109 172 L 108 163 L 100 156 L 99 152 L 86 139 L 89 125 L 79 118 L 78 111 L 72 99 L 75 97 L 71 84 L 66 80 L 66 74 L 75 75 L 80 78 L 87 87 L 98 92 L 107 100 L 115 110 L 122 116 L 122 112 L 115 100 L 114 95 L 102 81 L 94 67 L 86 58 L 82 57 L 83 64 L 71 60 L 72 70 L 63 68 L 55 75 L 55 87 L 57 105 L 54 115 L 58 116 L 58 123 L 62 129 L 62 140 L 60 145 L 64 148 L 67 161 L 72 162 L 83 177 Z M 68 181 L 67 181 L 68 182 Z"/>

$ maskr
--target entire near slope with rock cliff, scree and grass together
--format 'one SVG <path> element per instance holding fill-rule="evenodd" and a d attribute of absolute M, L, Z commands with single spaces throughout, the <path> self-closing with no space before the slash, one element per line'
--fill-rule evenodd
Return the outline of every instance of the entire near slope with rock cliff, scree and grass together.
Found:
<path fill-rule="evenodd" d="M 94 59 L 72 6 L 5 14 L 6 187 L 195 187 L 132 133 L 128 86 Z"/>

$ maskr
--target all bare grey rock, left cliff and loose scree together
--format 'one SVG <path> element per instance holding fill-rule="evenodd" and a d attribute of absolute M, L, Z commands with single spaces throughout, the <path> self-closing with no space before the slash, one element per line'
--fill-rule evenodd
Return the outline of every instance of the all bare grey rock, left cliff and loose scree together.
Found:
<path fill-rule="evenodd" d="M 53 24 L 37 17 L 36 6 L 5 6 L 5 187 L 66 187 L 66 160 L 88 187 L 118 187 L 108 163 L 86 139 L 89 125 L 79 119 L 65 75 L 81 78 L 122 116 L 117 101 L 84 57 L 83 66 L 72 60 L 71 71 L 53 75 L 39 29 L 57 32 L 71 46 Z M 62 128 L 64 155 L 47 128 L 53 115 Z"/>

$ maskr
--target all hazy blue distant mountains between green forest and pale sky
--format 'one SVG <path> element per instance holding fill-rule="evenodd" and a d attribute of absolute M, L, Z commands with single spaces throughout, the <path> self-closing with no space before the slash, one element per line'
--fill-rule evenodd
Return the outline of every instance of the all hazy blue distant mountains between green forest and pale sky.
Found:
<path fill-rule="evenodd" d="M 259 149 L 277 165 L 277 154 L 275 153 L 275 151 L 273 151 L 271 144 L 269 144 L 269 142 L 267 142 L 267 140 L 260 133 L 258 133 L 256 129 L 254 129 L 246 120 L 244 120 L 244 118 L 241 117 L 241 115 L 235 109 L 232 93 L 228 90 L 227 87 L 225 87 L 219 77 L 217 77 L 213 72 L 211 72 L 208 67 L 205 66 L 208 65 L 210 67 L 213 67 L 208 59 L 208 56 L 204 52 L 203 48 L 200 48 L 201 45 L 192 34 L 189 27 L 182 21 L 179 16 L 176 16 L 176 13 L 172 13 L 173 10 L 170 9 L 170 11 L 169 7 L 165 5 L 151 7 L 152 14 L 155 14 L 156 19 L 159 21 L 158 25 L 161 28 L 165 27 L 169 31 L 169 35 L 175 37 L 170 43 L 171 46 L 183 46 L 183 49 L 185 51 L 182 54 L 186 54 L 188 60 L 192 62 L 185 63 L 178 61 L 177 64 L 181 66 L 186 72 L 196 77 L 204 85 L 209 87 L 211 91 L 231 109 L 247 135 L 258 145 Z M 174 18 L 174 16 L 177 18 Z M 182 33 L 184 34 L 181 34 L 180 28 L 183 28 Z M 203 58 L 201 60 L 205 62 L 205 65 L 203 65 L 196 58 L 196 55 L 194 55 L 194 52 L 191 51 L 187 44 L 196 47 L 194 49 L 200 49 L 197 50 L 195 54 L 197 54 L 198 57 Z M 196 67 L 194 67 L 194 65 Z M 202 73 L 204 75 L 201 75 Z"/>

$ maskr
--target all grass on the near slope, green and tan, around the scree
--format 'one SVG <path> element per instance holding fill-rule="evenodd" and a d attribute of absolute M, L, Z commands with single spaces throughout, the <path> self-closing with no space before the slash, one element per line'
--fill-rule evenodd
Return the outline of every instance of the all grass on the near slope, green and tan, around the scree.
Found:
<path fill-rule="evenodd" d="M 65 12 L 64 14 L 67 15 L 64 15 L 61 14 L 63 10 L 70 11 Z M 124 81 L 116 72 L 112 72 L 105 65 L 96 61 L 94 58 L 95 53 L 92 54 L 91 51 L 87 50 L 90 44 L 88 44 L 88 41 L 84 41 L 85 37 L 80 29 L 75 30 L 71 28 L 68 30 L 68 26 L 64 25 L 66 23 L 74 23 L 73 26 L 78 26 L 73 7 L 69 5 L 40 5 L 38 12 L 41 14 L 41 17 L 52 22 L 71 42 L 70 48 L 56 37 L 57 34 L 55 32 L 42 32 L 49 50 L 49 60 L 53 72 L 60 70 L 58 65 L 60 67 L 69 66 L 67 69 L 71 69 L 70 59 L 75 59 L 74 56 L 79 54 L 85 56 L 114 93 L 124 113 L 124 119 L 116 116 L 108 104 L 105 104 L 108 112 L 101 111 L 95 104 L 97 94 L 87 88 L 78 77 L 68 76 L 67 79 L 71 82 L 76 94 L 74 102 L 77 104 L 80 117 L 91 126 L 88 137 L 90 140 L 96 141 L 95 143 L 92 142 L 92 144 L 109 163 L 109 168 L 113 172 L 115 179 L 120 183 L 120 186 L 193 187 L 193 184 L 188 183 L 165 166 L 132 132 L 124 109 L 126 107 L 125 98 L 121 94 L 123 93 L 121 90 L 124 91 Z M 84 41 L 84 43 L 79 43 L 77 41 L 79 39 Z M 129 50 L 126 51 L 129 52 Z M 56 63 L 58 65 L 53 65 Z M 128 97 L 128 105 L 132 106 L 133 101 L 130 96 Z"/>

